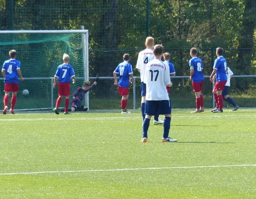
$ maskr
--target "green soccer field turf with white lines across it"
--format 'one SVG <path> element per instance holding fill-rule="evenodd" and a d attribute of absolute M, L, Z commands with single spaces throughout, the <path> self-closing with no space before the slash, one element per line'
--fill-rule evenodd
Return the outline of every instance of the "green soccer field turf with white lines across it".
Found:
<path fill-rule="evenodd" d="M 177 143 L 141 143 L 139 111 L 0 115 L 0 199 L 256 198 L 256 109 L 190 111 Z"/>

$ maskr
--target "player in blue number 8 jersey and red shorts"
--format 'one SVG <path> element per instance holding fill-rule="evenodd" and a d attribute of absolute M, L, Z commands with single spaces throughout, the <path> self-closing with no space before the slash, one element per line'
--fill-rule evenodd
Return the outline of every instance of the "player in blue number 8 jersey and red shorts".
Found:
<path fill-rule="evenodd" d="M 204 85 L 204 75 L 202 73 L 203 63 L 200 58 L 197 57 L 197 49 L 190 49 L 190 56 L 192 59 L 189 60 L 190 65 L 190 80 L 192 81 L 193 91 L 196 96 L 197 109 L 191 113 L 204 112 L 204 97 L 202 95 L 202 89 Z"/>

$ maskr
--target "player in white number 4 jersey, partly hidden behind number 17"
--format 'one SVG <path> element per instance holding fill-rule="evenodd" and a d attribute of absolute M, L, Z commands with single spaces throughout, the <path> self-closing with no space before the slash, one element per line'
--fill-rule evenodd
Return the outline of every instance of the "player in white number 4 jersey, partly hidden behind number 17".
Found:
<path fill-rule="evenodd" d="M 147 47 L 145 50 L 141 51 L 138 56 L 138 61 L 136 65 L 136 69 L 140 72 L 140 79 L 141 79 L 141 114 L 142 119 L 145 118 L 145 96 L 146 96 L 146 84 L 144 83 L 144 76 L 145 76 L 145 67 L 146 64 L 149 63 L 154 59 L 153 55 L 153 46 L 154 38 L 153 37 L 147 37 L 145 46 Z M 156 114 L 154 117 L 154 124 L 163 124 L 164 122 L 161 121 L 159 118 L 159 114 Z"/>

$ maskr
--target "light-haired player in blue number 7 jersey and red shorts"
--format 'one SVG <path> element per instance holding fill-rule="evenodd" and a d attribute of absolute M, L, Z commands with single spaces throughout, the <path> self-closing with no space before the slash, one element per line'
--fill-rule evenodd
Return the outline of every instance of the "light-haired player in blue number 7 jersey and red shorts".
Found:
<path fill-rule="evenodd" d="M 59 114 L 59 104 L 63 98 L 65 97 L 65 112 L 64 114 L 68 113 L 68 104 L 69 104 L 69 96 L 70 96 L 70 78 L 72 78 L 73 84 L 75 83 L 75 73 L 73 67 L 68 64 L 69 56 L 65 53 L 63 55 L 63 64 L 59 65 L 54 76 L 53 88 L 56 86 L 56 81 L 58 78 L 58 99 L 56 101 L 56 107 L 54 111 L 56 114 Z"/>

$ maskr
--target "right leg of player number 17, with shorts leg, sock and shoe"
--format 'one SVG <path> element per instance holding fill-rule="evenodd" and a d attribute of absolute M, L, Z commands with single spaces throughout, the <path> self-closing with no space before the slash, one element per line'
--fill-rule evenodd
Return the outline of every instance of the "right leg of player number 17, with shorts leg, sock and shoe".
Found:
<path fill-rule="evenodd" d="M 169 137 L 171 119 L 172 119 L 172 104 L 170 100 L 161 100 L 159 101 L 159 113 L 164 114 L 164 133 L 162 142 L 177 142 L 176 139 Z"/>

